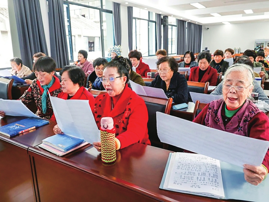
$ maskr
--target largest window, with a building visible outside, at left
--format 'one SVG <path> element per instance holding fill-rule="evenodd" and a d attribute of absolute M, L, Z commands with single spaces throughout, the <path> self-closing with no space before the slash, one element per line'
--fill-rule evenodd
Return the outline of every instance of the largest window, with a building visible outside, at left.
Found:
<path fill-rule="evenodd" d="M 76 3 L 76 4 L 73 4 Z M 77 5 L 77 4 L 80 5 Z M 108 57 L 108 48 L 114 46 L 111 1 L 64 1 L 64 17 L 69 44 L 69 60 L 77 60 L 78 51 L 88 52 L 88 60 Z"/>

